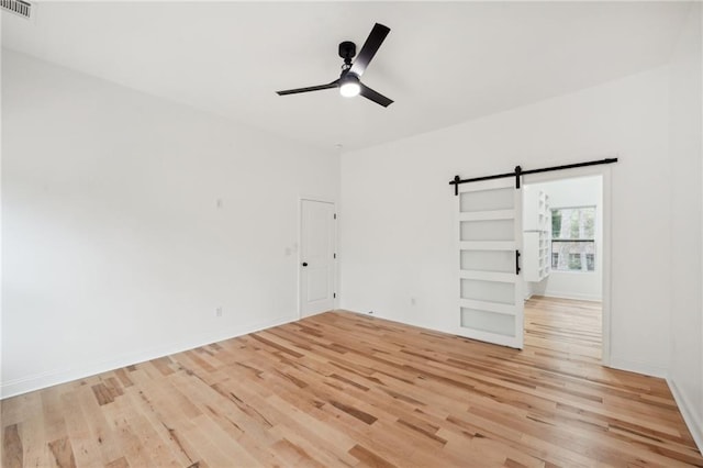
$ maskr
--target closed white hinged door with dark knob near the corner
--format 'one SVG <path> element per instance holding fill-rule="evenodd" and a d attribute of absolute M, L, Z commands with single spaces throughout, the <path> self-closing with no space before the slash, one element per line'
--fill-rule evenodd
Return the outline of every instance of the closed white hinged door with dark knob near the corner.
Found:
<path fill-rule="evenodd" d="M 301 201 L 301 316 L 334 309 L 334 204 Z"/>

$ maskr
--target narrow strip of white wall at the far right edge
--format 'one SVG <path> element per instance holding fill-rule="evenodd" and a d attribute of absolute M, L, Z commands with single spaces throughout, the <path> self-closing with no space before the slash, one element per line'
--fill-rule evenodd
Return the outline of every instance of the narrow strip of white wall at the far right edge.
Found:
<path fill-rule="evenodd" d="M 703 449 L 702 9 L 694 3 L 670 66 L 671 361 L 669 382 Z"/>

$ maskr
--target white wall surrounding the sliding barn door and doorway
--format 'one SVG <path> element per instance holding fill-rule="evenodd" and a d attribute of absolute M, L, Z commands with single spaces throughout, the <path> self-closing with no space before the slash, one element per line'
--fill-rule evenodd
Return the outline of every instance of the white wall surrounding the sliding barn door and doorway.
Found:
<path fill-rule="evenodd" d="M 432 328 L 458 321 L 448 181 L 620 156 L 612 166 L 615 367 L 662 376 L 670 352 L 668 70 L 342 156 L 342 305 Z M 412 304 L 415 298 L 415 305 Z"/>

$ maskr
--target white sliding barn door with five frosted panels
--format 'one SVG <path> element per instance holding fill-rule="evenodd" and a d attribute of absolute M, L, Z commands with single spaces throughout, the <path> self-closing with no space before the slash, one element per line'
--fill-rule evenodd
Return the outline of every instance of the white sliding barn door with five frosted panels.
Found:
<path fill-rule="evenodd" d="M 459 186 L 458 334 L 523 347 L 522 190 L 515 179 Z"/>

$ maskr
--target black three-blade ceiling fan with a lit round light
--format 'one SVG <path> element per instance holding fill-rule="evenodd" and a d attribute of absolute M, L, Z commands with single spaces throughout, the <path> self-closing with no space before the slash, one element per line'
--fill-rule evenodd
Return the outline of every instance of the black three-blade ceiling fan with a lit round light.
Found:
<path fill-rule="evenodd" d="M 339 57 L 344 58 L 344 65 L 342 65 L 342 75 L 338 79 L 320 86 L 311 86 L 308 88 L 287 89 L 284 91 L 276 91 L 278 96 L 297 94 L 300 92 L 320 91 L 323 89 L 339 88 L 339 93 L 346 98 L 352 98 L 357 94 L 364 96 L 366 99 L 370 99 L 377 104 L 388 108 L 393 103 L 391 99 L 380 92 L 373 91 L 368 86 L 361 82 L 361 75 L 366 71 L 371 58 L 376 55 L 379 47 L 386 40 L 390 29 L 376 23 L 371 33 L 366 38 L 359 55 L 352 63 L 352 58 L 356 55 L 356 44 L 350 41 L 345 41 L 339 44 Z"/>

